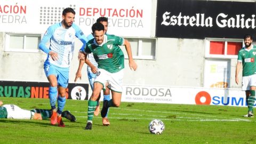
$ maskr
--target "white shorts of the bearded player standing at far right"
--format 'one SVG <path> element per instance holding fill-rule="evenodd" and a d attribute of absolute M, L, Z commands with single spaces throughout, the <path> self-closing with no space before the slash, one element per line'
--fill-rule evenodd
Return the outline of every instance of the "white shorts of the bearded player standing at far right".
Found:
<path fill-rule="evenodd" d="M 242 91 L 251 90 L 251 86 L 256 86 L 256 74 L 242 78 Z"/>

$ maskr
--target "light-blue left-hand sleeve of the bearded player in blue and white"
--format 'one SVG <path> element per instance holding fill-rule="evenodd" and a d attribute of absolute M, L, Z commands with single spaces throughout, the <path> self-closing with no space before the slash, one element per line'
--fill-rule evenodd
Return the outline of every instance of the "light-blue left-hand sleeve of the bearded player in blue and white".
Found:
<path fill-rule="evenodd" d="M 53 35 L 53 31 L 54 31 L 53 27 L 52 27 L 52 26 L 49 27 L 49 28 L 46 30 L 46 32 L 45 32 L 45 34 L 44 34 L 44 36 L 43 36 L 43 38 L 42 38 L 42 40 L 41 40 L 41 42 L 39 43 L 39 46 L 38 46 L 39 49 L 42 50 L 43 52 L 45 52 L 46 54 L 48 54 L 48 53 L 51 51 L 51 50 L 46 46 L 46 43 L 50 41 L 50 39 L 51 39 L 51 37 L 52 37 L 52 35 Z"/>

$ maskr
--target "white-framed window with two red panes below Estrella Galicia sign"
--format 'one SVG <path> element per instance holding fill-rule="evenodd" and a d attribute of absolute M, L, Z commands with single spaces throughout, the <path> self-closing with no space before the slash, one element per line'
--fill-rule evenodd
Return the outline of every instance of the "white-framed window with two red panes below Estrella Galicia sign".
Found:
<path fill-rule="evenodd" d="M 206 58 L 237 58 L 243 47 L 243 39 L 206 39 Z"/>

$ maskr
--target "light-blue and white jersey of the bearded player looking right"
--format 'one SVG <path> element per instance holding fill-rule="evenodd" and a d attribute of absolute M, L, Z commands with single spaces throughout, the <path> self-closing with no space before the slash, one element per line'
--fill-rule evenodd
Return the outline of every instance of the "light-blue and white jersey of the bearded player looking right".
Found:
<path fill-rule="evenodd" d="M 69 68 L 74 53 L 75 37 L 80 39 L 83 43 L 82 47 L 85 47 L 88 40 L 75 23 L 67 29 L 62 27 L 61 22 L 50 26 L 39 43 L 39 49 L 48 54 L 45 62 L 57 67 Z M 50 47 L 48 48 L 46 43 L 49 41 Z M 57 61 L 51 58 L 50 51 L 58 53 Z"/>

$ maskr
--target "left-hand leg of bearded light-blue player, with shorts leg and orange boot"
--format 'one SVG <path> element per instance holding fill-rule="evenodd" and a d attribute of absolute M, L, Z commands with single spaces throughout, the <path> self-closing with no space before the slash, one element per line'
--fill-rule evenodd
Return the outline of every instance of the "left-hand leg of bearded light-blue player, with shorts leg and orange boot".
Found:
<path fill-rule="evenodd" d="M 52 110 L 52 116 L 51 116 L 51 124 L 54 125 L 57 123 L 57 109 L 56 109 L 56 101 L 57 101 L 57 71 L 54 66 L 51 65 L 44 65 L 44 72 L 45 75 L 50 82 L 49 87 L 49 99 L 50 99 L 50 105 Z"/>

